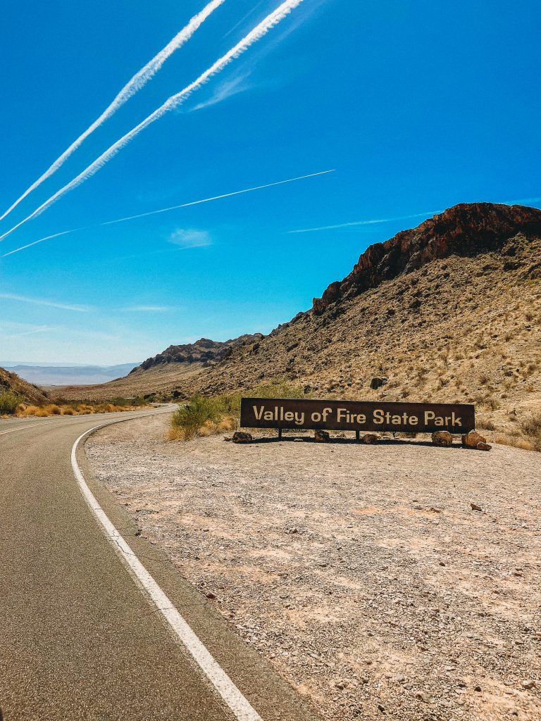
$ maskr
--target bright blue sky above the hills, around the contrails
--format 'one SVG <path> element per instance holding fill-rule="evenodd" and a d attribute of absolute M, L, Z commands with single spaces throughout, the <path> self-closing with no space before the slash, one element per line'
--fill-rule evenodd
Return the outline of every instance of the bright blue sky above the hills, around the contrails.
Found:
<path fill-rule="evenodd" d="M 27 217 L 279 5 L 225 0 L 0 224 Z M 0 213 L 203 0 L 3 10 Z M 366 247 L 462 201 L 540 207 L 539 4 L 304 0 L 100 172 L 0 243 L 0 358 L 143 360 L 269 332 Z M 335 172 L 110 226 L 105 221 Z M 537 200 L 535 200 L 537 198 Z M 416 216 L 405 218 L 403 216 Z M 304 233 L 299 229 L 341 226 Z"/>

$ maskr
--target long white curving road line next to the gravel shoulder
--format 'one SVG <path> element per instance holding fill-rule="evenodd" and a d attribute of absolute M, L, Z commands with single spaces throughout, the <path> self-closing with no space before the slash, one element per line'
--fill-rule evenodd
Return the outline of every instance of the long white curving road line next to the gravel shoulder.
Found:
<path fill-rule="evenodd" d="M 108 424 L 105 424 L 108 425 Z M 192 631 L 185 619 L 182 618 L 180 613 L 175 609 L 172 602 L 165 595 L 162 588 L 156 583 L 154 578 L 149 574 L 144 565 L 136 557 L 131 548 L 128 546 L 126 541 L 118 533 L 113 523 L 107 518 L 105 511 L 101 508 L 97 502 L 96 497 L 89 489 L 87 482 L 84 480 L 79 464 L 77 464 L 76 452 L 79 442 L 82 441 L 85 435 L 92 433 L 101 426 L 97 425 L 90 430 L 85 431 L 75 441 L 71 448 L 71 466 L 73 466 L 74 474 L 79 484 L 79 488 L 84 496 L 84 500 L 87 501 L 90 510 L 94 513 L 97 521 L 105 531 L 105 536 L 113 544 L 115 550 L 119 552 L 120 558 L 128 566 L 133 575 L 135 575 L 138 582 L 143 586 L 146 592 L 149 594 L 151 601 L 156 606 L 157 610 L 164 616 L 170 627 L 175 632 L 179 640 L 188 649 L 190 654 L 193 656 L 195 663 L 199 665 L 203 673 L 211 684 L 213 684 L 216 691 L 224 702 L 232 710 L 234 717 L 238 721 L 263 721 L 258 712 L 250 705 L 245 696 L 237 689 L 233 681 L 226 672 L 219 665 L 219 663 L 213 658 L 211 653 L 208 652 L 203 643 L 198 639 L 196 634 Z"/>

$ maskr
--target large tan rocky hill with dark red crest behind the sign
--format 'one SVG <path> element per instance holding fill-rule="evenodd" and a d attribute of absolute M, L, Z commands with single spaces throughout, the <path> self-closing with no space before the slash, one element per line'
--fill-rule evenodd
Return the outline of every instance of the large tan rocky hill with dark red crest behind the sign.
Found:
<path fill-rule="evenodd" d="M 316 396 L 475 402 L 485 423 L 519 423 L 541 409 L 541 211 L 455 205 L 369 247 L 270 335 L 180 367 L 137 377 L 180 397 L 286 377 Z"/>

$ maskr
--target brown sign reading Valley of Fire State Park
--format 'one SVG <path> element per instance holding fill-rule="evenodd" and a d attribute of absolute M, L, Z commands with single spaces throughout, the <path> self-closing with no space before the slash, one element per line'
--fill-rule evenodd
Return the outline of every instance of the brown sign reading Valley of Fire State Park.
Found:
<path fill-rule="evenodd" d="M 467 433 L 475 428 L 475 410 L 472 405 L 454 403 L 242 398 L 240 425 L 244 428 Z"/>

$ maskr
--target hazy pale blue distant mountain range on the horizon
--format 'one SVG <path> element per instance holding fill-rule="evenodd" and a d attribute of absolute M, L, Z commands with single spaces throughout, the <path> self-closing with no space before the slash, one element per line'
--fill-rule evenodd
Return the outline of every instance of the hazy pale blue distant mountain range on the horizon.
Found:
<path fill-rule="evenodd" d="M 25 381 L 38 386 L 97 384 L 126 376 L 137 363 L 118 366 L 12 366 L 9 368 Z"/>

